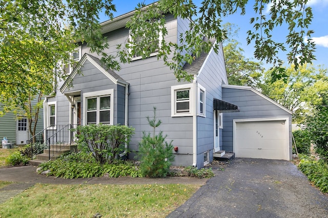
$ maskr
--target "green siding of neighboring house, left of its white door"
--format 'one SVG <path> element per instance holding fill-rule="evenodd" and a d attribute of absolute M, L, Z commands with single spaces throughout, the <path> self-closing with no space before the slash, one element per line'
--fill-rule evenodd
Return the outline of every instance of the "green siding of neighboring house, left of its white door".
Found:
<path fill-rule="evenodd" d="M 0 105 L 0 110 L 3 110 Z M 0 139 L 7 138 L 8 142 L 16 143 L 16 116 L 9 112 L 0 117 Z"/>

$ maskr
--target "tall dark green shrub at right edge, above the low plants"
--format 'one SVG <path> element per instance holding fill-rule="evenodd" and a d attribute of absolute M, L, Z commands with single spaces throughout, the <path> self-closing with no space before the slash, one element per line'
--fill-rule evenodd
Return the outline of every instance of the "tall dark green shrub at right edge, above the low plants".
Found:
<path fill-rule="evenodd" d="M 305 119 L 305 130 L 321 159 L 328 161 L 328 108 L 322 107 Z"/>

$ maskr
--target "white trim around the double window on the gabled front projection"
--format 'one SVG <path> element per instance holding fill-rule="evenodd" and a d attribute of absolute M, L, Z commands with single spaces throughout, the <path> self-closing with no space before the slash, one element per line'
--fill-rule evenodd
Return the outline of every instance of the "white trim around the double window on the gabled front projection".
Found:
<path fill-rule="evenodd" d="M 99 97 L 99 96 L 111 96 L 111 108 L 110 108 L 110 124 L 113 125 L 114 120 L 114 90 L 102 90 L 96 92 L 88 92 L 83 94 L 83 125 L 87 125 L 87 98 Z M 97 118 L 98 119 L 98 118 Z"/>

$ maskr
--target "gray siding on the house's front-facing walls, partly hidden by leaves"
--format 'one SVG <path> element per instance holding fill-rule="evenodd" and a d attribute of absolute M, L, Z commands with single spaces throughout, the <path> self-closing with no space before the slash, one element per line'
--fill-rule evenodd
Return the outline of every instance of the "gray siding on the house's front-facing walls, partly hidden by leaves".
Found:
<path fill-rule="evenodd" d="M 166 40 L 177 42 L 177 20 L 173 16 L 167 17 L 168 35 Z M 129 30 L 121 28 L 107 34 L 110 48 L 105 51 L 108 54 L 116 54 L 116 46 L 124 43 L 129 37 Z M 89 53 L 85 45 L 81 46 L 82 56 Z M 101 58 L 96 54 L 92 54 Z M 169 57 L 170 58 L 170 57 Z M 115 71 L 122 79 L 129 83 L 128 99 L 128 125 L 135 128 L 129 144 L 132 151 L 129 158 L 134 158 L 138 151 L 138 143 L 142 138 L 142 132 L 152 132 L 146 117 L 153 116 L 153 107 L 156 106 L 156 117 L 162 124 L 156 129 L 168 135 L 167 141 L 173 140 L 173 145 L 179 150 L 175 165 L 192 165 L 193 161 L 193 119 L 192 117 L 171 117 L 171 86 L 185 84 L 178 82 L 169 67 L 163 64 L 157 57 L 133 60 L 127 64 L 120 64 L 121 70 Z M 81 91 L 81 107 L 83 107 L 83 94 L 100 90 L 114 89 L 114 124 L 125 123 L 125 87 L 114 84 L 104 74 L 99 72 L 88 61 L 80 69 L 81 74 L 73 78 L 73 87 L 65 92 Z M 57 92 L 56 97 L 49 101 L 57 102 L 57 124 L 68 124 L 70 105 L 68 99 Z M 84 108 L 81 108 L 81 113 Z M 81 116 L 83 117 L 83 115 Z M 83 121 L 82 121 L 83 123 Z M 172 151 L 173 152 L 173 151 Z"/>

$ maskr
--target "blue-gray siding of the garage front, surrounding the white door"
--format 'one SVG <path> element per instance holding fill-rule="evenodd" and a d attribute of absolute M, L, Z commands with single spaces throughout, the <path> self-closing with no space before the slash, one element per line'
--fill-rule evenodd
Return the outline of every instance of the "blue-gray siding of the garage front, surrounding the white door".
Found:
<path fill-rule="evenodd" d="M 223 150 L 233 151 L 233 120 L 251 118 L 289 117 L 290 133 L 292 130 L 292 115 L 251 90 L 222 88 L 222 100 L 235 104 L 240 112 L 223 114 Z M 290 134 L 290 149 L 292 149 L 292 134 Z M 292 151 L 290 151 L 292 154 Z"/>

